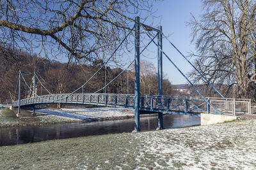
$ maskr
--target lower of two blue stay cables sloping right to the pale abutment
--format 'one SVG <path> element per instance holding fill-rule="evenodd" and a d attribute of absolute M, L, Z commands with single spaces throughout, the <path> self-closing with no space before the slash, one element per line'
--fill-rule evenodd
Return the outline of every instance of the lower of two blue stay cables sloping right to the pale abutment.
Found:
<path fill-rule="evenodd" d="M 152 39 L 148 34 L 147 36 Z M 153 40 L 153 43 L 157 46 L 157 43 Z M 159 48 L 159 46 L 157 46 Z M 159 50 L 161 50 L 161 52 L 163 52 L 163 54 L 165 55 L 165 57 L 170 60 L 170 62 L 172 62 L 173 66 L 180 72 L 180 74 L 182 74 L 182 76 L 184 76 L 184 78 L 186 78 L 186 80 L 190 83 L 190 85 L 192 85 L 192 87 L 196 90 L 196 92 L 198 92 L 198 94 L 204 99 L 204 101 L 209 104 L 209 106 L 211 106 L 211 108 L 216 111 L 216 113 L 221 114 L 220 111 L 216 110 L 211 103 L 209 103 L 209 101 L 200 93 L 200 91 L 195 87 L 195 85 L 193 85 L 193 83 L 191 81 L 189 81 L 189 79 L 187 78 L 187 76 L 185 76 L 184 73 L 182 73 L 182 71 L 179 69 L 179 67 L 176 66 L 176 64 L 174 64 L 174 62 L 170 59 L 170 57 L 168 57 L 168 55 L 166 55 L 166 53 L 159 48 Z"/>

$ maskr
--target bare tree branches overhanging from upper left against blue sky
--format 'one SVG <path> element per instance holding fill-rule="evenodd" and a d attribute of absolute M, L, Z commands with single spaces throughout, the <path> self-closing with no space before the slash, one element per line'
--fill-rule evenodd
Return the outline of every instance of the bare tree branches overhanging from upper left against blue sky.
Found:
<path fill-rule="evenodd" d="M 132 18 L 151 9 L 150 0 L 1 1 L 0 44 L 90 62 L 112 52 Z"/>

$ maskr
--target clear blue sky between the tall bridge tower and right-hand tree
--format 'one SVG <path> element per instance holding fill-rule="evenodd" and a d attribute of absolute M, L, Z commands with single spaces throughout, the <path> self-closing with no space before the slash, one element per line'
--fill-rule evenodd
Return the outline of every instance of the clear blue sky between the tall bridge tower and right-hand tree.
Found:
<path fill-rule="evenodd" d="M 202 3 L 200 0 L 166 0 L 153 3 L 154 15 L 161 16 L 161 25 L 165 35 L 169 34 L 169 39 L 179 48 L 179 50 L 188 55 L 188 52 L 194 51 L 195 46 L 191 44 L 191 28 L 186 24 L 191 19 L 191 14 L 197 17 L 202 13 Z M 159 18 L 160 20 L 160 18 Z M 146 22 L 147 23 L 147 22 Z M 150 20 L 148 20 L 148 24 Z M 154 24 L 158 25 L 157 20 Z M 163 41 L 163 50 L 177 64 L 183 73 L 188 73 L 192 67 L 186 63 L 186 60 L 177 53 L 167 41 Z M 189 60 L 193 60 L 190 59 Z M 157 60 L 150 60 L 156 65 Z M 186 79 L 172 66 L 172 64 L 163 58 L 163 72 L 173 84 L 186 83 Z"/>

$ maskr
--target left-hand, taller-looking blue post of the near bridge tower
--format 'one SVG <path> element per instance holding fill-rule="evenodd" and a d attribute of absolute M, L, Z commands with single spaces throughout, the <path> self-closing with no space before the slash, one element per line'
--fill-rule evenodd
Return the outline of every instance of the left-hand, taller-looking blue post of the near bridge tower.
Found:
<path fill-rule="evenodd" d="M 135 18 L 134 131 L 140 131 L 140 17 Z"/>

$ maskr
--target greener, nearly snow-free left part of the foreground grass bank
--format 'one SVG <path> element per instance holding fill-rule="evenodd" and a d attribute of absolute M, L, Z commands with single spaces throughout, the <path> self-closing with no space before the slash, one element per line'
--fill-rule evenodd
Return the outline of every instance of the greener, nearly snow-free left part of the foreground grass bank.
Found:
<path fill-rule="evenodd" d="M 111 134 L 3 146 L 0 150 L 0 167 L 3 169 L 12 167 L 20 169 L 96 169 L 97 167 L 133 169 L 139 163 L 136 161 L 136 150 L 141 149 L 138 143 L 139 140 L 132 134 Z"/>

